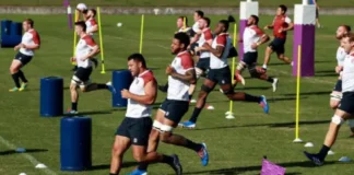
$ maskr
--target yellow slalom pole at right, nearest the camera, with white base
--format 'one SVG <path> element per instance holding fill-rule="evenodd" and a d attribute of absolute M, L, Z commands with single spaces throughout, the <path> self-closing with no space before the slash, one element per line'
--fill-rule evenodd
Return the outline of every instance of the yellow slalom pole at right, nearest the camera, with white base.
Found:
<path fill-rule="evenodd" d="M 300 91 L 300 71 L 302 71 L 302 46 L 297 46 L 297 78 L 296 78 L 296 118 L 295 118 L 295 140 L 294 142 L 303 142 L 298 136 L 299 131 L 299 91 Z"/>

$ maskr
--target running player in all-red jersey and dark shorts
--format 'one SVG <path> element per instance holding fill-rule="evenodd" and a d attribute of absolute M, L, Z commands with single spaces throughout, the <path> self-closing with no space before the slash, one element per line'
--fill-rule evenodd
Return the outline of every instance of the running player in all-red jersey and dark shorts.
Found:
<path fill-rule="evenodd" d="M 276 15 L 273 20 L 273 24 L 267 25 L 264 30 L 273 28 L 274 39 L 266 49 L 264 63 L 263 69 L 267 70 L 267 66 L 270 60 L 270 56 L 272 52 L 276 52 L 278 58 L 283 60 L 286 63 L 292 63 L 292 60 L 285 57 L 285 42 L 286 42 L 286 33 L 287 31 L 292 31 L 294 28 L 294 23 L 292 20 L 285 14 L 287 8 L 284 4 L 279 5 L 276 10 Z"/>

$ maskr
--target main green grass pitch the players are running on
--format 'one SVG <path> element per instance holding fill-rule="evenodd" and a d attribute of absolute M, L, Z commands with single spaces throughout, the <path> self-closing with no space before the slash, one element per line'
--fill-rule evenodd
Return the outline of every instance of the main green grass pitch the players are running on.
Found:
<path fill-rule="evenodd" d="M 21 21 L 24 15 L 2 15 L 2 18 Z M 69 86 L 72 66 L 69 58 L 72 56 L 72 31 L 67 27 L 67 19 L 62 15 L 32 15 L 36 28 L 40 33 L 43 45 L 36 52 L 33 61 L 23 71 L 30 80 L 28 91 L 9 93 L 13 86 L 9 75 L 9 66 L 15 55 L 13 49 L 3 48 L 0 51 L 0 136 L 17 147 L 26 149 L 44 149 L 45 152 L 31 152 L 39 162 L 48 165 L 57 174 L 72 174 L 60 172 L 60 117 L 39 117 L 39 79 L 58 75 L 64 79 L 64 86 Z M 213 21 L 221 16 L 212 16 Z M 261 25 L 271 22 L 272 16 L 261 16 Z M 111 70 L 125 69 L 126 58 L 139 49 L 139 15 L 103 15 L 104 50 L 107 73 L 99 70 L 93 72 L 95 82 L 110 80 Z M 172 61 L 168 47 L 175 28 L 176 16 L 145 16 L 145 35 L 143 54 L 148 65 L 153 68 L 158 82 L 165 83 L 165 67 Z M 340 20 L 339 20 L 340 19 Z M 198 122 L 198 129 L 176 129 L 175 132 L 191 140 L 208 144 L 210 165 L 202 167 L 199 158 L 193 152 L 173 145 L 161 143 L 158 149 L 163 153 L 177 153 L 180 156 L 184 170 L 189 174 L 258 174 L 261 167 L 261 158 L 268 158 L 286 167 L 290 174 L 352 174 L 353 164 L 335 162 L 343 155 L 353 158 L 352 139 L 349 138 L 349 128 L 343 126 L 333 147 L 335 155 L 328 156 L 329 164 L 322 167 L 312 167 L 303 155 L 304 150 L 317 151 L 322 144 L 328 124 L 333 115 L 329 108 L 329 93 L 337 80 L 333 72 L 335 51 L 339 43 L 333 34 L 338 25 L 351 20 L 351 16 L 323 16 L 324 28 L 317 31 L 316 36 L 316 77 L 302 79 L 300 93 L 300 138 L 315 143 L 314 149 L 305 149 L 304 144 L 292 143 L 294 140 L 295 119 L 295 82 L 291 75 L 292 68 L 284 66 L 274 56 L 271 60 L 269 74 L 280 79 L 279 91 L 272 93 L 269 83 L 247 79 L 245 88 L 237 88 L 250 94 L 264 94 L 269 97 L 270 115 L 264 115 L 256 104 L 234 103 L 236 119 L 225 119 L 228 102 L 224 95 L 215 90 L 208 103 L 214 105 L 215 110 L 203 110 Z M 122 22 L 122 27 L 117 27 Z M 161 25 L 165 23 L 164 25 Z M 214 26 L 215 23 L 212 25 Z M 268 31 L 271 34 L 270 31 Z M 290 34 L 286 44 L 286 54 L 292 55 L 293 35 Z M 167 48 L 167 49 L 166 49 Z M 259 62 L 262 62 L 264 46 L 260 48 Z M 246 75 L 247 74 L 247 75 Z M 245 72 L 248 78 L 248 73 Z M 200 83 L 199 85 L 200 86 Z M 199 90 L 199 88 L 198 88 Z M 198 92 L 197 92 L 198 93 Z M 158 93 L 156 103 L 161 103 L 166 94 Z M 197 94 L 196 94 L 197 96 Z M 93 118 L 93 171 L 75 173 L 81 175 L 108 174 L 110 149 L 116 128 L 125 117 L 125 110 L 111 108 L 110 94 L 107 91 L 97 91 L 86 94 L 80 93 L 79 109 L 85 113 L 107 113 L 87 115 Z M 273 98 L 273 100 L 272 100 Z M 70 94 L 64 90 L 64 106 L 70 106 Z M 157 106 L 157 105 L 156 105 Z M 192 105 L 185 119 L 189 118 Z M 154 110 L 155 113 L 155 110 Z M 34 168 L 32 163 L 22 154 L 3 154 L 9 148 L 0 143 L 0 174 L 15 175 L 26 172 L 28 175 L 42 175 L 44 172 Z M 134 162 L 131 151 L 125 156 L 125 163 Z M 134 167 L 128 166 L 122 174 Z M 166 165 L 152 165 L 152 175 L 172 174 Z"/>

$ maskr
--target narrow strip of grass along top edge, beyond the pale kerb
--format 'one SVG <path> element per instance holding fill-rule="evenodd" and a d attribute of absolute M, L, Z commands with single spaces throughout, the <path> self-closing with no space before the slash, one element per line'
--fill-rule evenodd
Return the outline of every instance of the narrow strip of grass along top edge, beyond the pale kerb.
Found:
<path fill-rule="evenodd" d="M 88 5 L 119 5 L 119 7 L 238 7 L 240 0 L 71 0 L 71 4 L 84 2 Z M 300 0 L 260 0 L 260 7 L 278 7 L 284 3 L 293 7 L 302 3 Z M 341 0 L 333 3 L 332 0 L 320 0 L 320 7 L 351 7 L 354 0 Z M 0 1 L 0 5 L 62 5 L 62 0 L 11 0 Z"/>

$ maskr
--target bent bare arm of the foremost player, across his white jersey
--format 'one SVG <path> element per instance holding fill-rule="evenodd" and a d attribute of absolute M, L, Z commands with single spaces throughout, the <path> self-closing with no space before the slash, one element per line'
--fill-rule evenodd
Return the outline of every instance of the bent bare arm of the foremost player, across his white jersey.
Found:
<path fill-rule="evenodd" d="M 130 93 L 128 90 L 123 90 L 126 92 L 122 93 L 127 93 L 127 95 L 122 95 L 126 96 L 126 98 L 130 98 L 133 100 L 140 104 L 144 104 L 144 105 L 152 105 L 155 103 L 155 100 L 157 97 L 157 84 L 156 81 L 152 80 L 149 81 L 145 86 L 144 86 L 144 91 L 145 91 L 145 95 L 137 95 L 133 93 Z"/>

